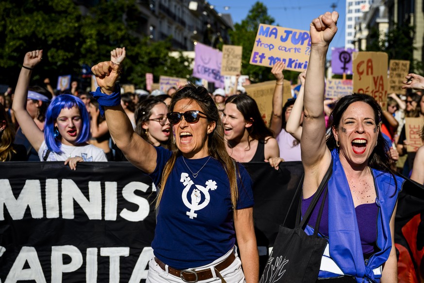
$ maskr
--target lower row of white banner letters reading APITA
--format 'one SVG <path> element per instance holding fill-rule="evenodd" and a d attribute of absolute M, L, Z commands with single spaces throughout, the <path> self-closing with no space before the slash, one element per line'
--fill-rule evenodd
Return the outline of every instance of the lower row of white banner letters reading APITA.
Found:
<path fill-rule="evenodd" d="M 64 255 L 70 257 L 68 264 L 63 263 Z M 97 283 L 97 255 L 98 248 L 86 249 L 85 279 L 86 283 Z M 101 256 L 109 257 L 109 282 L 119 282 L 120 262 L 119 257 L 128 257 L 130 248 L 128 247 L 107 247 L 100 248 Z M 135 256 L 132 254 L 132 256 Z M 144 247 L 141 251 L 136 265 L 133 268 L 131 278 L 128 283 L 139 283 L 147 278 L 146 270 L 150 259 L 153 257 L 153 248 Z M 26 263 L 30 268 L 26 267 Z M 62 282 L 63 273 L 71 273 L 78 270 L 83 265 L 81 251 L 75 246 L 53 246 L 51 247 L 51 282 Z M 36 283 L 47 283 L 38 259 L 37 251 L 34 247 L 22 247 L 7 274 L 4 283 L 16 283 L 22 280 L 33 280 Z M 1 281 L 0 281 L 1 283 Z"/>

